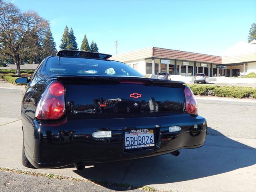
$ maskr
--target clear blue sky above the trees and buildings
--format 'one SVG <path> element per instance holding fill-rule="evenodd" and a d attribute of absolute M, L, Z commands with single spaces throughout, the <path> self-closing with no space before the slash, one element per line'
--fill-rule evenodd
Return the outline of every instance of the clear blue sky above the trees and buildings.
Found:
<path fill-rule="evenodd" d="M 49 20 L 59 49 L 65 26 L 73 28 L 80 48 L 84 34 L 102 53 L 151 46 L 221 55 L 247 42 L 256 22 L 256 1 L 26 1 L 12 0 L 22 12 L 35 10 Z"/>

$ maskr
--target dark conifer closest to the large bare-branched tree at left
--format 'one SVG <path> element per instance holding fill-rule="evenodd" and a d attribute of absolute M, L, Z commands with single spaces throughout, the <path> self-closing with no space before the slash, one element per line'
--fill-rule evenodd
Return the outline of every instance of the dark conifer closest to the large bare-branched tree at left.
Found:
<path fill-rule="evenodd" d="M 52 37 L 52 32 L 50 28 L 46 32 L 46 36 L 44 38 L 43 46 L 42 46 L 42 56 L 45 58 L 46 56 L 49 55 L 56 55 L 57 49 L 56 49 L 56 44 L 53 40 Z"/>

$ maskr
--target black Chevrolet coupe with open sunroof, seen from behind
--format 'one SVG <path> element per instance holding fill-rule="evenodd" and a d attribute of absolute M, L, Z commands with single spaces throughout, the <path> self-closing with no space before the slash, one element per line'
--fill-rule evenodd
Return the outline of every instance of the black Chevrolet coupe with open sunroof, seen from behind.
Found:
<path fill-rule="evenodd" d="M 111 55 L 59 51 L 26 83 L 21 114 L 22 164 L 57 168 L 198 148 L 205 118 L 184 82 L 145 78 Z"/>

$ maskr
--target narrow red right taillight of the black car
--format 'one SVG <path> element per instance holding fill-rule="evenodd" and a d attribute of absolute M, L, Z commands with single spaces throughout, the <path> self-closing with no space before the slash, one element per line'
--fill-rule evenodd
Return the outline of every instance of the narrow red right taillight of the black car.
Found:
<path fill-rule="evenodd" d="M 197 108 L 197 103 L 196 103 L 196 99 L 194 97 L 193 92 L 187 86 L 185 87 L 184 92 L 186 97 L 186 105 L 185 105 L 186 111 L 191 115 L 197 115 L 198 108 Z"/>

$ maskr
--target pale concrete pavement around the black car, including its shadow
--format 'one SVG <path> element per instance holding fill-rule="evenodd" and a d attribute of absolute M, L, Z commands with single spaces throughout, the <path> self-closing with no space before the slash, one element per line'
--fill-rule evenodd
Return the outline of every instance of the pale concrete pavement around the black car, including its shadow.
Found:
<path fill-rule="evenodd" d="M 21 164 L 21 92 L 14 86 L 0 88 L 1 167 L 25 169 Z M 198 106 L 209 126 L 201 148 L 182 149 L 178 157 L 166 154 L 92 164 L 83 171 L 72 165 L 36 171 L 160 190 L 255 191 L 256 102 L 198 99 Z"/>

